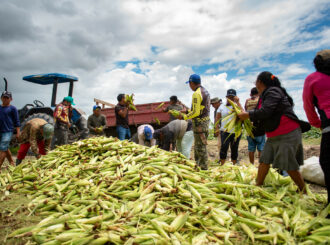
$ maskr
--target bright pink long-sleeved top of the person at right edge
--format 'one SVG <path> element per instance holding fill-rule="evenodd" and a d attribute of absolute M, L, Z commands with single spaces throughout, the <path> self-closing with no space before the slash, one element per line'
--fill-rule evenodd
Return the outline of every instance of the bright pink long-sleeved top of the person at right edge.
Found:
<path fill-rule="evenodd" d="M 314 72 L 306 78 L 304 84 L 303 101 L 306 116 L 312 126 L 320 128 L 321 120 L 315 110 L 315 97 L 320 110 L 330 118 L 330 76 Z"/>

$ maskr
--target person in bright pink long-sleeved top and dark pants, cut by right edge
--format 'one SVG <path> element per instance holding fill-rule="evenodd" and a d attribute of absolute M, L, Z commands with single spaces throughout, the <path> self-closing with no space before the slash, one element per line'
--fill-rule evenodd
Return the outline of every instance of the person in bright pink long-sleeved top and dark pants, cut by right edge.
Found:
<path fill-rule="evenodd" d="M 303 101 L 310 124 L 322 129 L 320 165 L 324 172 L 330 203 L 330 49 L 316 54 L 314 66 L 316 72 L 305 80 Z"/>

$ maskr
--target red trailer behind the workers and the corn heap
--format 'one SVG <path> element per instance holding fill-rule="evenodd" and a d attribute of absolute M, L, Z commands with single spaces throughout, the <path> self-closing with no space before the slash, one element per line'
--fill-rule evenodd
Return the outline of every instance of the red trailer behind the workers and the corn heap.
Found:
<path fill-rule="evenodd" d="M 107 136 L 116 136 L 116 116 L 115 116 L 115 108 L 113 104 L 94 99 L 94 101 L 98 104 L 102 104 L 101 112 L 106 116 L 107 119 Z M 164 103 L 164 106 L 157 110 L 157 107 Z M 147 104 L 138 104 L 135 105 L 137 111 L 129 111 L 128 120 L 129 126 L 131 129 L 132 135 L 136 132 L 137 127 L 142 124 L 150 124 L 155 129 L 161 128 L 166 125 L 170 121 L 170 115 L 166 112 L 163 112 L 163 108 L 166 108 L 170 104 L 169 101 L 163 102 L 155 102 L 155 103 L 147 103 Z M 186 105 L 179 102 L 185 109 L 188 109 Z M 111 107 L 105 108 L 105 105 L 109 105 Z M 157 123 L 157 119 L 160 122 L 160 125 Z"/>

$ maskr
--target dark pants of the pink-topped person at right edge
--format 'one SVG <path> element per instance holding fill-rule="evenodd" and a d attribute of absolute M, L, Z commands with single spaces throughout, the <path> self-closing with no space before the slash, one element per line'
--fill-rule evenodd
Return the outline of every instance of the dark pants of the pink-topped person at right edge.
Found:
<path fill-rule="evenodd" d="M 320 164 L 328 190 L 328 203 L 330 203 L 330 132 L 322 134 Z"/>

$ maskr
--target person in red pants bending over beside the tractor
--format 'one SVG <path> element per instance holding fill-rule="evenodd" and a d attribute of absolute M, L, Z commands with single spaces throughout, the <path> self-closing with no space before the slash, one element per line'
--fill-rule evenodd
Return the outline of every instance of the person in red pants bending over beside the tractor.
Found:
<path fill-rule="evenodd" d="M 44 119 L 33 118 L 28 121 L 18 138 L 21 144 L 17 153 L 16 165 L 23 161 L 30 147 L 37 159 L 41 155 L 46 155 L 50 150 L 53 134 L 54 126 Z"/>

